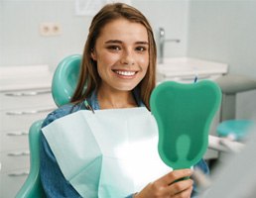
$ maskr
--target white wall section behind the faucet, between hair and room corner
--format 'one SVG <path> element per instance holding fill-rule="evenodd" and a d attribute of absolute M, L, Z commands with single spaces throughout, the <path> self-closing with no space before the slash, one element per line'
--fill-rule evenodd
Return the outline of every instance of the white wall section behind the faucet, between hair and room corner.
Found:
<path fill-rule="evenodd" d="M 150 20 L 158 44 L 158 29 L 164 28 L 166 39 L 181 43 L 166 43 L 165 56 L 185 56 L 187 52 L 188 14 L 190 0 L 132 0 Z"/>

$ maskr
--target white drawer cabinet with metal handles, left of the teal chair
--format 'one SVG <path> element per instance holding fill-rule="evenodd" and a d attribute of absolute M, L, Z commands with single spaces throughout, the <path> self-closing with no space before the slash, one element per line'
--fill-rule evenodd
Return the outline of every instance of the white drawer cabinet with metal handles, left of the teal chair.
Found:
<path fill-rule="evenodd" d="M 56 108 L 47 65 L 0 67 L 0 197 L 15 197 L 28 176 L 28 132 Z"/>

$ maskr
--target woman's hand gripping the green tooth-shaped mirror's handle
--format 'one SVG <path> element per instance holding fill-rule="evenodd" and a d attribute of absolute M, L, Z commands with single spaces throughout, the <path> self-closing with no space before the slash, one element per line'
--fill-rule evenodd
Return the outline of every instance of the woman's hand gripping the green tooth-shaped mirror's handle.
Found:
<path fill-rule="evenodd" d="M 190 177 L 191 175 L 191 169 L 174 170 L 159 178 L 158 180 L 149 183 L 141 192 L 137 193 L 134 197 L 190 198 L 192 194 L 192 179 L 183 180 L 182 178 Z"/>

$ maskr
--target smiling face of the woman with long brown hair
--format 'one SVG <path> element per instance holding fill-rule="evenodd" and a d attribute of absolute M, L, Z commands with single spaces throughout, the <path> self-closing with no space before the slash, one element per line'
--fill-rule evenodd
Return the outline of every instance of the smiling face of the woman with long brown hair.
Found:
<path fill-rule="evenodd" d="M 146 28 L 126 19 L 106 24 L 91 57 L 97 62 L 101 88 L 132 90 L 144 78 L 149 66 Z"/>

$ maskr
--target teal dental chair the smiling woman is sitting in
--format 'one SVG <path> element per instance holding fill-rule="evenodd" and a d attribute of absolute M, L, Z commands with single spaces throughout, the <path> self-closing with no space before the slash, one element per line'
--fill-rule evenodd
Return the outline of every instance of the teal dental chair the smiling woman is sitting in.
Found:
<path fill-rule="evenodd" d="M 81 55 L 74 54 L 65 57 L 58 65 L 53 81 L 52 95 L 57 106 L 62 106 L 70 101 L 74 92 Z M 43 120 L 36 121 L 29 130 L 30 145 L 30 172 L 16 195 L 16 198 L 41 198 L 45 197 L 40 179 L 40 136 Z"/>

